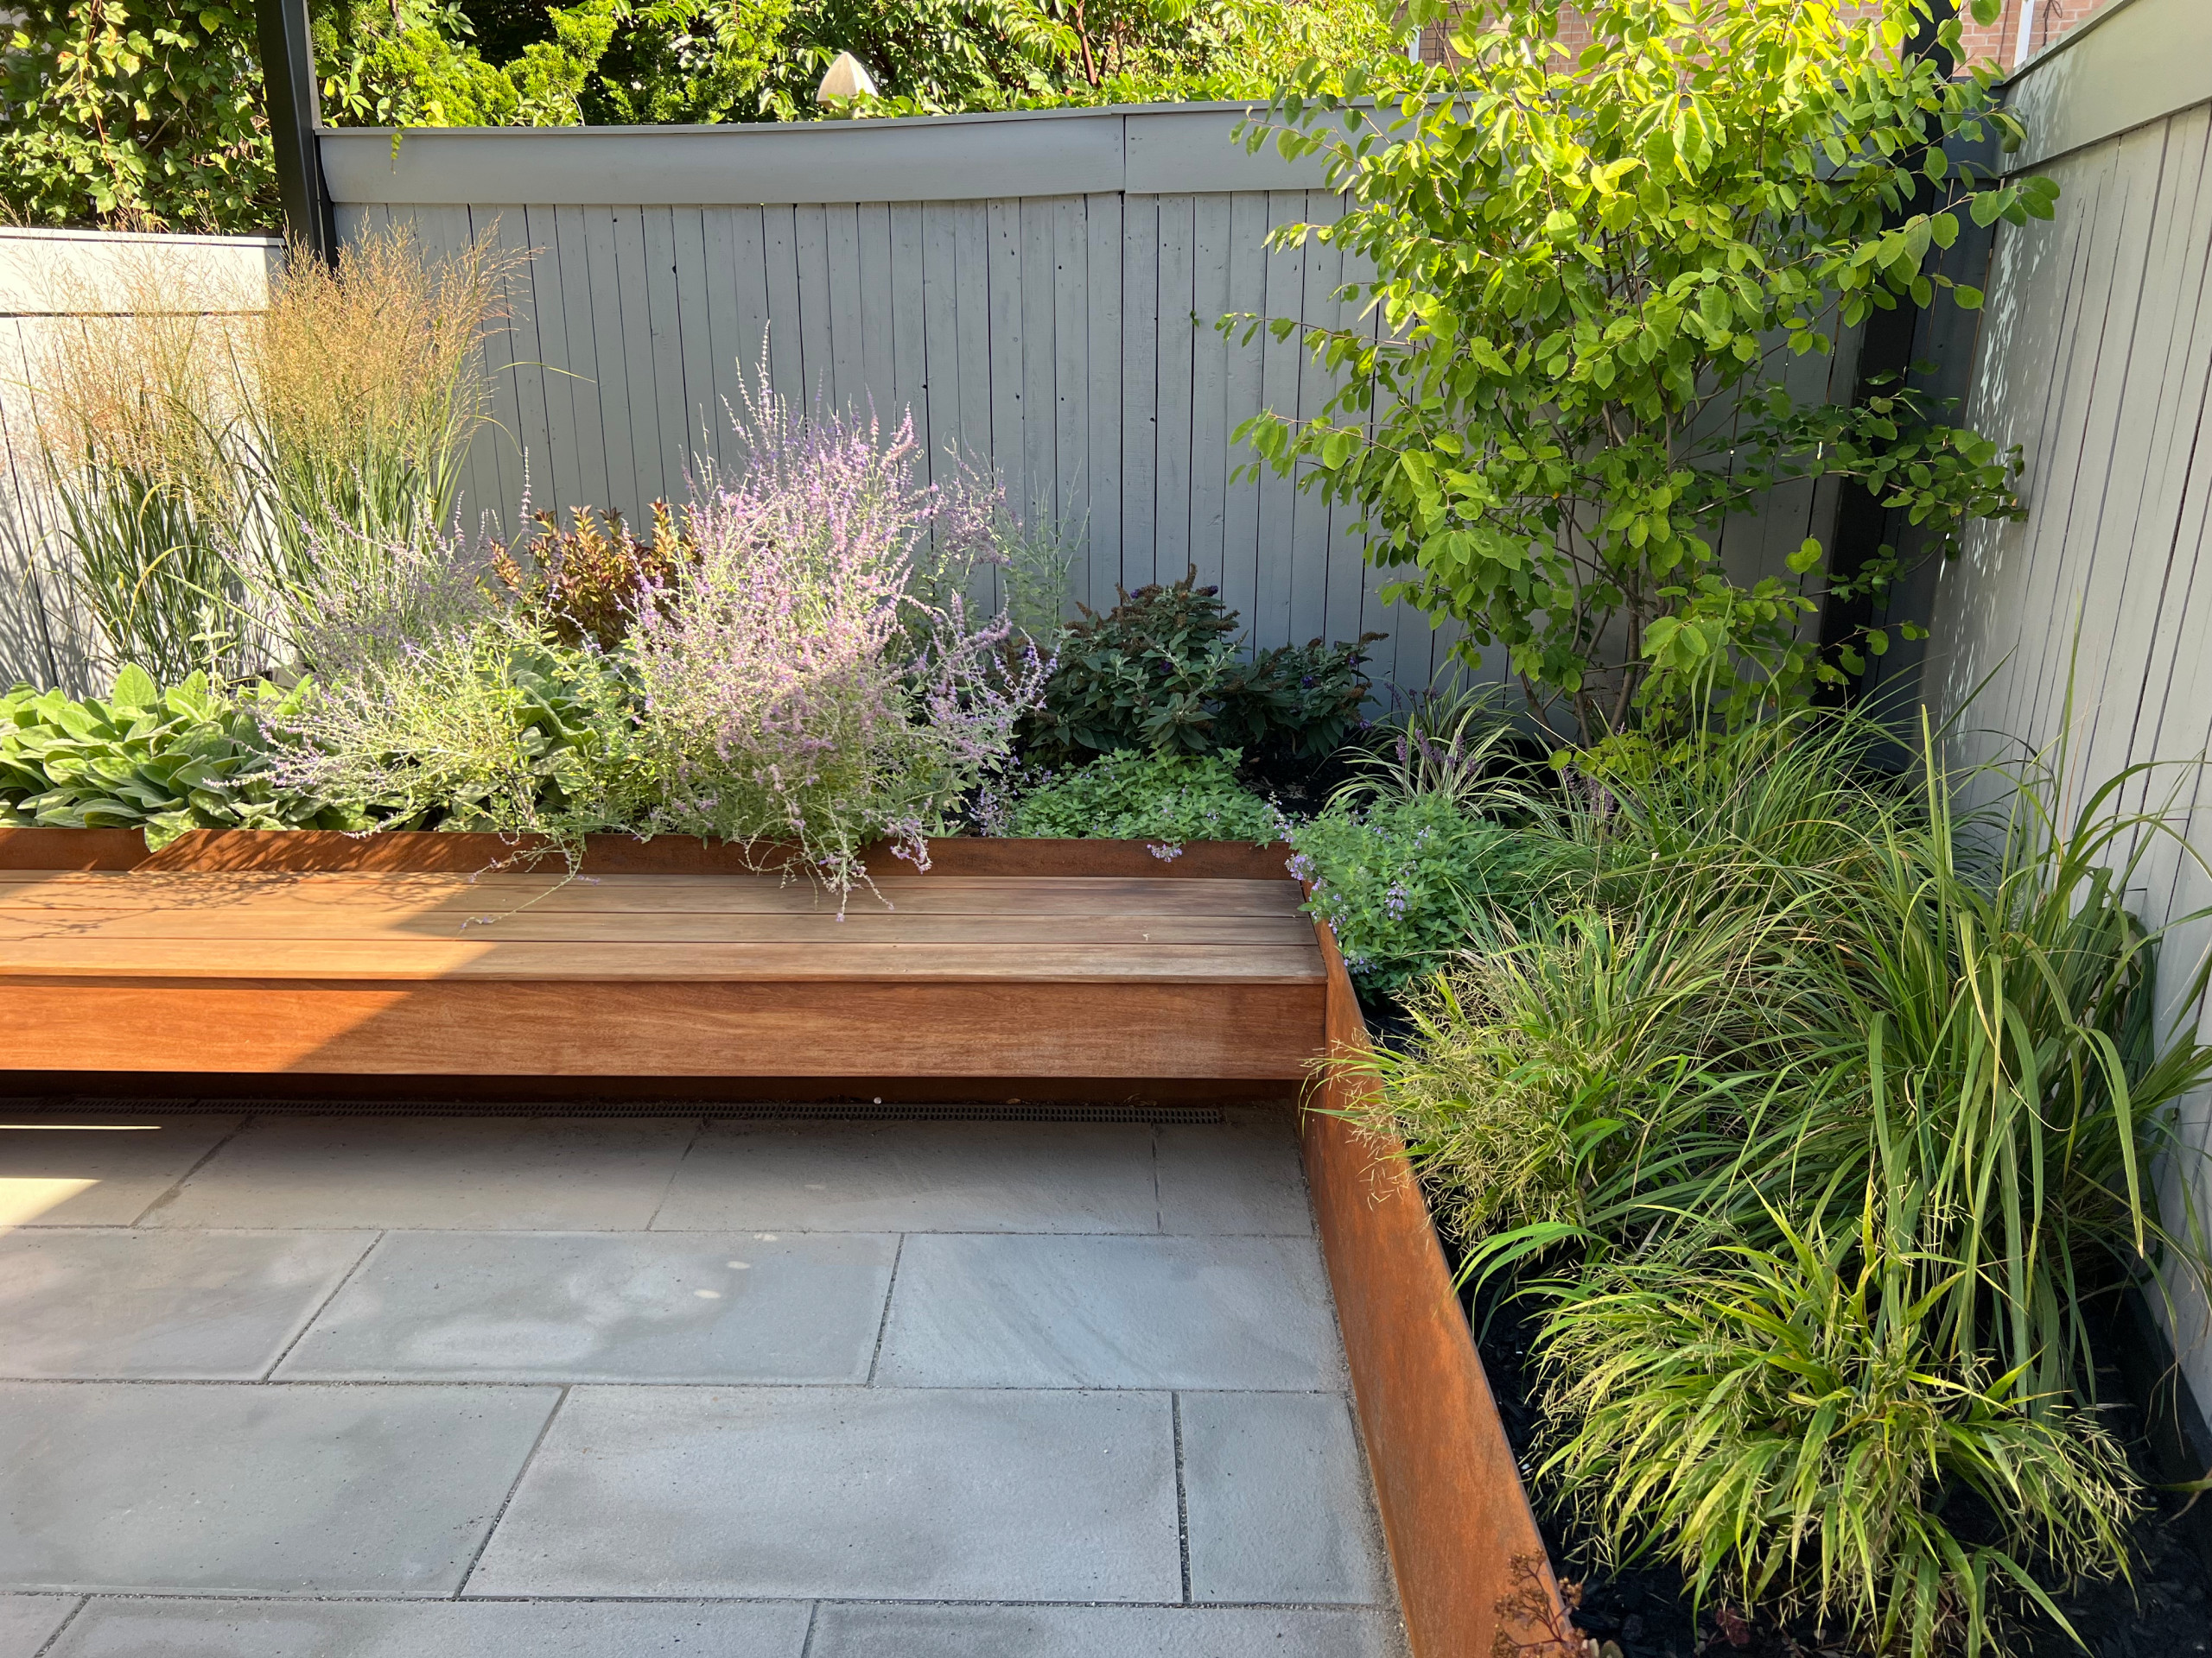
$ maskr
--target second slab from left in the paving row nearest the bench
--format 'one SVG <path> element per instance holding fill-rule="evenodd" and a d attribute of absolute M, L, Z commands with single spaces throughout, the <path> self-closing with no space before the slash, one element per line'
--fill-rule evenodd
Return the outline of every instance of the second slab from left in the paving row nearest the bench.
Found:
<path fill-rule="evenodd" d="M 155 1227 L 644 1231 L 692 1119 L 263 1116 Z"/>

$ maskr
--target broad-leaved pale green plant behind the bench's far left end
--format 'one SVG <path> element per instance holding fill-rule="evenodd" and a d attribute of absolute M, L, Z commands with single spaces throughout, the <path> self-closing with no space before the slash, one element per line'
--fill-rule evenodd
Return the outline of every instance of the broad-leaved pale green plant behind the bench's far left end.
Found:
<path fill-rule="evenodd" d="M 0 822 L 139 829 L 155 851 L 186 829 L 361 829 L 354 807 L 283 785 L 265 723 L 312 694 L 237 701 L 192 674 L 166 692 L 124 668 L 106 701 L 18 685 L 0 696 Z"/>

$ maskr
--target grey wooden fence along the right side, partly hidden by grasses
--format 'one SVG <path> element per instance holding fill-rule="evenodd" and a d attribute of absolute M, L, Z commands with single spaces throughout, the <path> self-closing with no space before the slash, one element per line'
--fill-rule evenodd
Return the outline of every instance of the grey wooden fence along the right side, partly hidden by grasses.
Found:
<path fill-rule="evenodd" d="M 2024 447 L 2028 520 L 1982 526 L 1942 570 L 1922 692 L 1938 716 L 1960 714 L 1964 758 L 2066 738 L 2075 800 L 2126 765 L 2174 763 L 2128 798 L 2170 800 L 2212 856 L 2199 765 L 2212 747 L 2212 9 L 2115 7 L 2011 97 L 2031 128 L 2011 166 L 2064 195 L 2051 223 L 1997 237 L 1969 418 Z M 2185 917 L 2212 904 L 2212 880 L 2157 840 L 2135 904 L 2152 924 Z M 2168 1017 L 2203 1021 L 2179 995 L 2208 940 L 2212 926 L 2188 922 L 2163 951 Z M 2203 1099 L 2188 1136 L 2212 1147 Z M 2177 1172 L 2166 1178 L 2179 1214 Z M 2197 1200 L 2212 1209 L 2212 1180 Z M 2208 1329 L 2190 1307 L 2177 1349 L 2212 1404 Z"/>

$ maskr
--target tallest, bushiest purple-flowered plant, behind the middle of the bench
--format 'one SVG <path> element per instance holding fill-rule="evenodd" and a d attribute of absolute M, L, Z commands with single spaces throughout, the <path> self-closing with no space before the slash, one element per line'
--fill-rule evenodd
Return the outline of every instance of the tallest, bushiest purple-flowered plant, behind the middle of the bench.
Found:
<path fill-rule="evenodd" d="M 768 389 L 734 418 L 741 471 L 695 484 L 695 557 L 646 586 L 622 652 L 659 789 L 644 827 L 838 889 L 865 880 L 869 840 L 927 867 L 925 838 L 1004 765 L 1048 670 L 1002 652 L 1004 615 L 975 626 L 958 592 L 914 590 L 931 535 L 991 515 L 916 478 L 907 420 L 885 436 Z"/>

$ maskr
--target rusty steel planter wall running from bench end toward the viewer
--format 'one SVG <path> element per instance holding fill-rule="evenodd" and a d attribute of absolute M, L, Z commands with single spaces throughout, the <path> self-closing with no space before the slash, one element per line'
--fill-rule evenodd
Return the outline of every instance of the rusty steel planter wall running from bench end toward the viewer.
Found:
<path fill-rule="evenodd" d="M 1396 1138 L 1343 1116 L 1371 1090 L 1367 1024 L 1325 922 L 1327 1063 L 1298 1114 L 1413 1658 L 1579 1658 L 1429 1205 Z"/>

